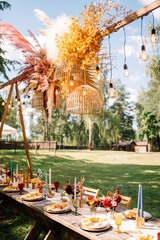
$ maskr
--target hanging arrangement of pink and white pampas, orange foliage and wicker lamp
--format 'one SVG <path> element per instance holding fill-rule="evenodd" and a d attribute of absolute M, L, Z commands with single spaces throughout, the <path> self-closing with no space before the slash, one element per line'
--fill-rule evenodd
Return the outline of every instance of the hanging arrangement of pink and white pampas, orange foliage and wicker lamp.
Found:
<path fill-rule="evenodd" d="M 52 20 L 38 9 L 35 13 L 46 26 L 46 29 L 39 30 L 45 39 L 43 47 L 30 30 L 28 32 L 34 45 L 10 24 L 0 23 L 0 35 L 24 55 L 25 60 L 15 82 L 26 83 L 24 92 L 33 92 L 32 106 L 44 109 L 47 119 L 48 116 L 51 117 L 52 109 L 59 108 L 64 101 L 67 102 L 68 112 L 78 113 L 77 105 L 81 103 L 83 95 L 88 97 L 89 104 L 87 105 L 85 97 L 85 104 L 79 108 L 79 113 L 99 112 L 103 97 L 100 69 L 97 68 L 104 58 L 108 58 L 108 54 L 100 54 L 101 45 L 104 37 L 109 34 L 107 27 L 127 16 L 130 11 L 111 0 L 85 6 L 77 18 L 63 15 Z M 75 104 L 75 110 L 71 111 L 75 96 L 79 100 Z M 27 101 L 30 101 L 30 97 Z"/>

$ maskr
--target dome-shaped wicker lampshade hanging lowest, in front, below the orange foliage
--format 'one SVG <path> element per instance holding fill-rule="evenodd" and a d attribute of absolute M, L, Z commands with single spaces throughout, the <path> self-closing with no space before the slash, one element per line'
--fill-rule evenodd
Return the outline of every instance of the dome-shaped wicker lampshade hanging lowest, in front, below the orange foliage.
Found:
<path fill-rule="evenodd" d="M 89 85 L 80 85 L 69 94 L 66 112 L 71 114 L 98 114 L 102 111 L 99 92 Z"/>

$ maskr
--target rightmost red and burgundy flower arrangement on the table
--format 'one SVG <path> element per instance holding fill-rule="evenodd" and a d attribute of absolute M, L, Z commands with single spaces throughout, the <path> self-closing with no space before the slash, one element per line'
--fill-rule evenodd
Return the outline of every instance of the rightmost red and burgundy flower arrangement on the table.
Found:
<path fill-rule="evenodd" d="M 119 189 L 115 189 L 115 194 L 113 197 L 107 196 L 103 201 L 103 206 L 107 209 L 107 211 L 115 211 L 118 203 L 121 201 L 121 197 L 119 196 Z"/>

